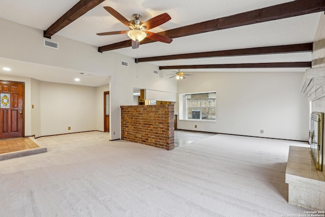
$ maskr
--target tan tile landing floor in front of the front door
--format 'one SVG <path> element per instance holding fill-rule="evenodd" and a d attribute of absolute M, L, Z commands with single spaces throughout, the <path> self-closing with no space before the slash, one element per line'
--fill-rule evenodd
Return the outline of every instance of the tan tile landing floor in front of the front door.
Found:
<path fill-rule="evenodd" d="M 31 141 L 27 137 L 0 140 L 0 154 L 39 147 L 40 146 L 38 146 L 35 142 Z"/>

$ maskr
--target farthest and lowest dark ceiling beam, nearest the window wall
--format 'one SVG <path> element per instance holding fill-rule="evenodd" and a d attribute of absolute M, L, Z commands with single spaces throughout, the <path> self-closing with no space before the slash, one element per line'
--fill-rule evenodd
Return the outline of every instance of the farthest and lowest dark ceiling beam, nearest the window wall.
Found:
<path fill-rule="evenodd" d="M 164 69 L 240 69 L 240 68 L 311 68 L 311 62 L 286 63 L 256 63 L 256 64 L 215 64 L 215 65 L 186 65 L 186 66 L 160 66 Z"/>

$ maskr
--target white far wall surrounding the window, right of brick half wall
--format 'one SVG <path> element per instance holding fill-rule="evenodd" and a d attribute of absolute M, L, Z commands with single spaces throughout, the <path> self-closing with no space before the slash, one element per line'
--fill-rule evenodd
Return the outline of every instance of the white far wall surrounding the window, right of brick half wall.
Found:
<path fill-rule="evenodd" d="M 307 141 L 309 106 L 300 94 L 303 75 L 301 72 L 194 73 L 178 83 L 178 94 L 216 91 L 217 120 L 179 120 L 178 129 Z"/>

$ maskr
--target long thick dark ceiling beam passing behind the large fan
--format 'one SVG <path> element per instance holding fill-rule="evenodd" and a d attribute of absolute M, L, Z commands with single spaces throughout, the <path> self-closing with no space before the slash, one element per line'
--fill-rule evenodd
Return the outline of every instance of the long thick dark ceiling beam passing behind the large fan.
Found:
<path fill-rule="evenodd" d="M 325 0 L 296 0 L 267 8 L 248 11 L 218 19 L 208 20 L 200 23 L 186 25 L 160 32 L 158 34 L 169 38 L 179 38 L 200 33 L 212 32 L 226 28 L 239 27 L 255 23 L 262 23 L 272 20 L 301 16 L 305 14 L 325 11 Z M 148 38 L 141 41 L 141 44 L 155 42 Z M 130 47 L 131 40 L 118 42 L 98 48 L 99 52 Z"/>

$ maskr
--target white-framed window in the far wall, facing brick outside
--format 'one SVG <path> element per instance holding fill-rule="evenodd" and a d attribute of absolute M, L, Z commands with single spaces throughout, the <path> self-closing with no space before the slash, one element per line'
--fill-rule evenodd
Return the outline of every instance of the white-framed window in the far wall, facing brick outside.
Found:
<path fill-rule="evenodd" d="M 216 120 L 216 92 L 180 95 L 179 102 L 180 119 Z"/>

